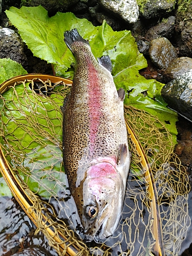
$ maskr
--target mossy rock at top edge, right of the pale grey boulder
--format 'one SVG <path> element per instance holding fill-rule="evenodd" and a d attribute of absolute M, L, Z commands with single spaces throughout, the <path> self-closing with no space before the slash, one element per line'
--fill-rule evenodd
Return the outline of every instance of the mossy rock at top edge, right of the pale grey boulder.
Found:
<path fill-rule="evenodd" d="M 175 0 L 139 0 L 139 11 L 147 19 L 158 18 L 173 11 Z"/>

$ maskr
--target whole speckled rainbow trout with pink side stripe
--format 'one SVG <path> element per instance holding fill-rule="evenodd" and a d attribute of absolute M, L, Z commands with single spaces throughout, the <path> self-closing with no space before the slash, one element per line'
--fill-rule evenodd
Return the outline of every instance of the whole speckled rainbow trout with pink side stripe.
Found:
<path fill-rule="evenodd" d="M 109 56 L 98 58 L 76 29 L 64 33 L 76 59 L 63 104 L 63 163 L 87 241 L 112 236 L 121 216 L 130 154 Z"/>

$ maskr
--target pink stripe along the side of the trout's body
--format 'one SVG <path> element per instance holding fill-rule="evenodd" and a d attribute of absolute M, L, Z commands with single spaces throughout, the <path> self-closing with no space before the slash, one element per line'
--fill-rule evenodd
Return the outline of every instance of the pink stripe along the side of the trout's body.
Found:
<path fill-rule="evenodd" d="M 87 58 L 87 65 L 89 69 L 89 87 L 88 87 L 88 105 L 89 105 L 89 117 L 90 117 L 90 154 L 94 154 L 94 142 L 98 131 L 98 125 L 100 121 L 100 109 L 101 109 L 101 91 L 98 81 L 98 72 L 94 67 L 90 58 Z"/>

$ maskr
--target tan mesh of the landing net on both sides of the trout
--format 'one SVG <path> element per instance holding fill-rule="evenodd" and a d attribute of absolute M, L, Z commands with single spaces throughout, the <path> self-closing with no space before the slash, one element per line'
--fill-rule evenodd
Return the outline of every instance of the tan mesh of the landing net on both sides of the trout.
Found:
<path fill-rule="evenodd" d="M 119 227 L 103 244 L 86 244 L 79 238 L 80 220 L 70 197 L 61 151 L 60 106 L 69 92 L 70 86 L 62 82 L 42 82 L 38 87 L 34 80 L 27 80 L 0 95 L 0 143 L 20 185 L 34 202 L 28 211 L 37 212 L 36 233 L 44 232 L 58 255 L 70 254 L 69 247 L 77 255 L 152 255 L 155 238 L 148 184 L 129 134 L 132 163 Z M 133 106 L 125 106 L 124 112 L 153 170 L 165 253 L 177 255 L 190 226 L 186 171 L 173 153 L 172 136 L 163 123 Z M 52 234 L 42 224 L 42 215 Z"/>

